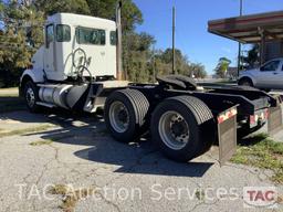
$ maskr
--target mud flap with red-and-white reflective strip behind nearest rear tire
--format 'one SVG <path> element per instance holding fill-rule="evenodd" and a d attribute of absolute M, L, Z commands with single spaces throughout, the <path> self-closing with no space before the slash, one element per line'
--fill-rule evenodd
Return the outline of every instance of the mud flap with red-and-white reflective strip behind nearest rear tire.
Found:
<path fill-rule="evenodd" d="M 223 166 L 237 150 L 237 106 L 218 115 L 219 162 Z"/>

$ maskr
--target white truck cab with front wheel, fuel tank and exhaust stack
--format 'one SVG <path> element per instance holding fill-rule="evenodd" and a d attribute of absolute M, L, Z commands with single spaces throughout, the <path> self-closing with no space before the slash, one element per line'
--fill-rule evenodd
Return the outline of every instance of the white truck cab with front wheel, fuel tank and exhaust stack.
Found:
<path fill-rule="evenodd" d="M 57 106 L 93 113 L 103 107 L 105 89 L 126 86 L 127 82 L 114 81 L 119 21 L 72 13 L 49 17 L 44 45 L 21 76 L 20 93 L 28 108 Z"/>

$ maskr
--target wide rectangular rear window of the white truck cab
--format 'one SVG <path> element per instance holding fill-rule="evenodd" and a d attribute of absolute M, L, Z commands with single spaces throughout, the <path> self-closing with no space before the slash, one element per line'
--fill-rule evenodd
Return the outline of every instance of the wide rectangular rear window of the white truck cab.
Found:
<path fill-rule="evenodd" d="M 105 30 L 76 28 L 76 42 L 78 44 L 105 45 Z"/>

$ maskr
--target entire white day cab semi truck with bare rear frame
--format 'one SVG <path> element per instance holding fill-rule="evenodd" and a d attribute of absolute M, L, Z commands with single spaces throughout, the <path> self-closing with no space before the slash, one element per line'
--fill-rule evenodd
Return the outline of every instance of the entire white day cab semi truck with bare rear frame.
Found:
<path fill-rule="evenodd" d="M 176 161 L 189 161 L 218 141 L 223 163 L 235 150 L 238 131 L 248 135 L 268 119 L 269 130 L 281 127 L 280 98 L 255 88 L 203 88 L 180 75 L 158 76 L 158 84 L 119 81 L 119 8 L 116 22 L 70 13 L 48 19 L 44 45 L 20 82 L 31 112 L 104 108 L 116 140 L 130 142 L 150 131 L 153 142 Z"/>

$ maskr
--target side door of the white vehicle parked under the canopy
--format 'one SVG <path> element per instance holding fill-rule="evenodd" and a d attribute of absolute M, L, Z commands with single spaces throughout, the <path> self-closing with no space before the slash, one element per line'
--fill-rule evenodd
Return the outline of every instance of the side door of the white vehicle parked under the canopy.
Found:
<path fill-rule="evenodd" d="M 274 60 L 261 66 L 256 81 L 260 87 L 277 88 L 280 60 Z"/>

